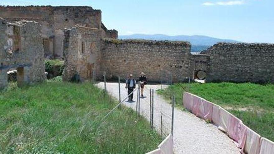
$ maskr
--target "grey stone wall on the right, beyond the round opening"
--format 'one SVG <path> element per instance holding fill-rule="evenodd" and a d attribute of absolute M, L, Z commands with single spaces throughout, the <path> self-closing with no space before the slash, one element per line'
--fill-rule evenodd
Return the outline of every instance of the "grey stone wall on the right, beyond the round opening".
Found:
<path fill-rule="evenodd" d="M 205 54 L 207 82 L 274 82 L 274 44 L 218 43 Z"/>

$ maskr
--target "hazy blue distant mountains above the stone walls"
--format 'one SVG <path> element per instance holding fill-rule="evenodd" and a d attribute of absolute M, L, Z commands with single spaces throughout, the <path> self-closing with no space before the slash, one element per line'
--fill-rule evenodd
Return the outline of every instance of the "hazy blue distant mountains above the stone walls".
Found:
<path fill-rule="evenodd" d="M 209 48 L 218 42 L 236 43 L 235 40 L 224 40 L 209 36 L 202 35 L 176 35 L 169 36 L 163 34 L 146 35 L 146 34 L 133 34 L 133 35 L 119 35 L 119 39 L 144 39 L 144 40 L 171 40 L 171 41 L 188 41 L 192 45 L 192 52 L 198 52 Z"/>

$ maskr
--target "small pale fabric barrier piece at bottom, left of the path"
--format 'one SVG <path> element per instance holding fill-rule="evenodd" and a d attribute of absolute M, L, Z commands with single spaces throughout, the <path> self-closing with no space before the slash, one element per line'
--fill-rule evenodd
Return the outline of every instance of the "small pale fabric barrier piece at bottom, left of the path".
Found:
<path fill-rule="evenodd" d="M 172 154 L 173 153 L 173 139 L 169 134 L 163 142 L 158 145 L 158 149 L 148 152 L 146 154 Z"/>

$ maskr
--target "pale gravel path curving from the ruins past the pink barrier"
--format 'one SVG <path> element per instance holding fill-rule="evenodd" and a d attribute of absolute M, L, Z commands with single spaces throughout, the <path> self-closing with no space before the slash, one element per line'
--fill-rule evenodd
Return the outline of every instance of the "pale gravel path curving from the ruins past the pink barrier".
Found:
<path fill-rule="evenodd" d="M 104 88 L 104 83 L 97 84 Z M 112 96 L 119 99 L 118 83 L 107 83 L 107 91 Z M 167 135 L 171 132 L 172 107 L 161 96 L 157 95 L 156 89 L 160 85 L 146 85 L 144 95 L 146 98 L 140 100 L 140 113 L 149 120 L 149 88 L 154 89 L 154 126 L 160 132 L 160 116 L 163 114 L 163 131 Z M 121 99 L 127 96 L 125 84 L 121 84 Z M 134 93 L 133 100 L 136 100 L 137 91 Z M 177 102 L 181 103 L 181 102 Z M 136 102 L 124 102 L 124 105 L 135 110 Z M 218 128 L 212 124 L 207 124 L 204 120 L 195 115 L 174 110 L 174 153 L 181 154 L 239 154 L 239 149 L 234 142 Z"/>

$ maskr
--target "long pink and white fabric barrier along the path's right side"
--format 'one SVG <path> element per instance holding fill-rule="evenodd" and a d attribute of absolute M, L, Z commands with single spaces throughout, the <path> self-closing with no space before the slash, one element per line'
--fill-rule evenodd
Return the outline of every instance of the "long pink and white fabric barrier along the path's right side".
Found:
<path fill-rule="evenodd" d="M 262 138 L 219 105 L 187 92 L 184 92 L 183 97 L 183 105 L 187 110 L 202 119 L 212 121 L 236 142 L 241 153 L 274 154 L 274 142 Z"/>

